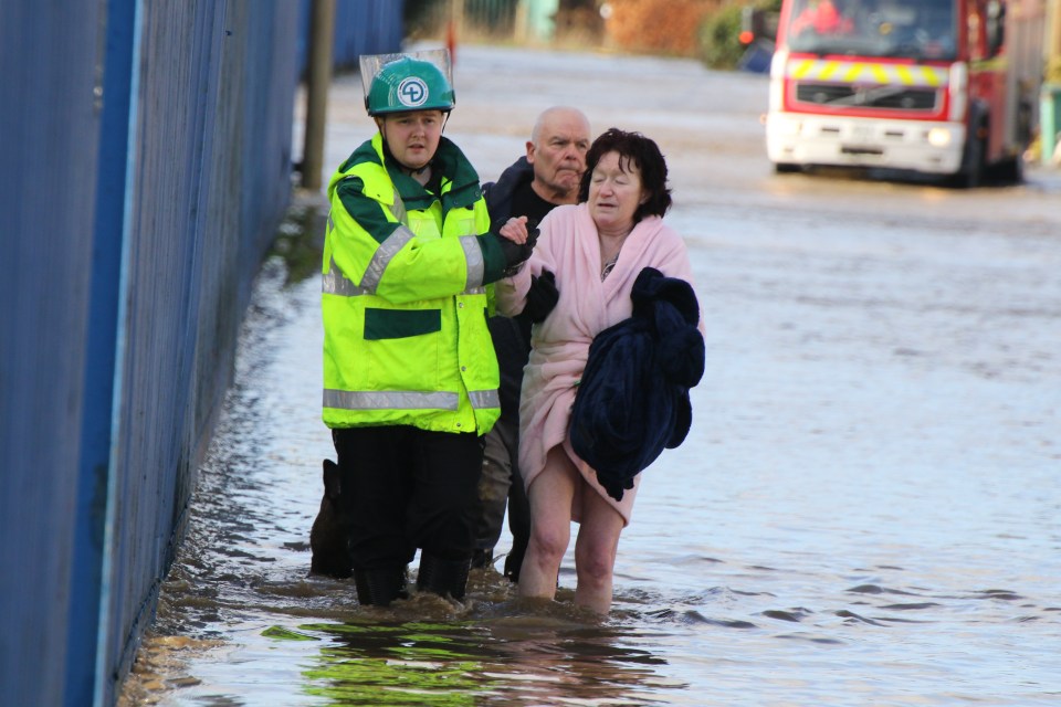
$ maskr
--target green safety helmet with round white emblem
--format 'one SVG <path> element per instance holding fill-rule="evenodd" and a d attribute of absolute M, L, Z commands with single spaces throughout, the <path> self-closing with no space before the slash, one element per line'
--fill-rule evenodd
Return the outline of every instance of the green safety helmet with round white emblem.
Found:
<path fill-rule="evenodd" d="M 365 107 L 372 116 L 405 110 L 449 113 L 454 103 L 453 86 L 442 71 L 411 56 L 385 64 L 365 96 Z"/>

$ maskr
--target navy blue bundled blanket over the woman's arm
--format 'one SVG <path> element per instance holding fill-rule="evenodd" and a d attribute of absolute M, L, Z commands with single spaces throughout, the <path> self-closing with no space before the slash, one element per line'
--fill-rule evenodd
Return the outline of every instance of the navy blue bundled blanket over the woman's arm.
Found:
<path fill-rule="evenodd" d="M 633 314 L 593 338 L 571 411 L 575 453 L 617 500 L 693 421 L 689 389 L 704 374 L 700 305 L 692 285 L 645 267 Z"/>

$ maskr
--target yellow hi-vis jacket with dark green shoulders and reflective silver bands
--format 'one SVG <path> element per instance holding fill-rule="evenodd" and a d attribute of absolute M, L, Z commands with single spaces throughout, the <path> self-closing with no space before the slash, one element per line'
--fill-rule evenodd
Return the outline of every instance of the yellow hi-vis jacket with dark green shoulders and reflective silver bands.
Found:
<path fill-rule="evenodd" d="M 324 412 L 329 428 L 493 426 L 501 408 L 486 318 L 505 266 L 479 176 L 442 138 L 429 191 L 377 134 L 328 181 Z M 441 175 L 441 180 L 438 176 Z"/>

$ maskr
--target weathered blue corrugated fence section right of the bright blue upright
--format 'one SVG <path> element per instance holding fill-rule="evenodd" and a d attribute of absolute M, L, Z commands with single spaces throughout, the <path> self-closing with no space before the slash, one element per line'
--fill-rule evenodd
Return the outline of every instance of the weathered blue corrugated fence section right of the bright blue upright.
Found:
<path fill-rule="evenodd" d="M 290 198 L 296 12 L 250 0 L 143 9 L 102 614 L 111 683 L 151 619 L 251 279 Z"/>

